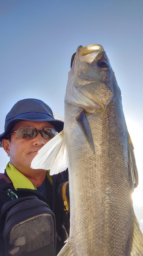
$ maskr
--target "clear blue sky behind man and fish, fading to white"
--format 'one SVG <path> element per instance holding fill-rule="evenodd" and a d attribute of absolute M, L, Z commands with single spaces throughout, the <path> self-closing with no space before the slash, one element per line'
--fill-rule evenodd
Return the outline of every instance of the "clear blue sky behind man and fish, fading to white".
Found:
<path fill-rule="evenodd" d="M 116 73 L 143 189 L 142 0 L 0 0 L 0 133 L 23 98 L 39 98 L 64 120 L 72 54 L 100 44 Z M 9 161 L 3 148 L 1 172 Z"/>

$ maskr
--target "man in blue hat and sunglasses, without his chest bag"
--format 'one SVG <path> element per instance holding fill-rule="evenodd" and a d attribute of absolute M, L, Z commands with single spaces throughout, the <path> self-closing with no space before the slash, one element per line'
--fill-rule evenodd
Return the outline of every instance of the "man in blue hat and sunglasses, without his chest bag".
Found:
<path fill-rule="evenodd" d="M 54 212 L 56 253 L 66 240 L 58 186 L 62 181 L 68 180 L 68 171 L 50 176 L 48 170 L 32 169 L 31 162 L 40 148 L 63 130 L 63 126 L 64 122 L 54 119 L 52 110 L 43 101 L 23 99 L 6 116 L 5 132 L 0 135 L 0 145 L 10 157 L 5 176 L 12 182 L 13 193 L 18 198 L 34 195 L 46 202 Z M 6 200 L 9 201 L 10 198 Z M 3 194 L 0 193 L 0 209 L 4 203 Z"/>

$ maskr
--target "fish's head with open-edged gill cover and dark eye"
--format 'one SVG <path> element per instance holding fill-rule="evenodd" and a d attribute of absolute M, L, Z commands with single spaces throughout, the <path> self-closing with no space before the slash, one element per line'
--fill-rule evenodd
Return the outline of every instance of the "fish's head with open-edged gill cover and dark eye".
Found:
<path fill-rule="evenodd" d="M 121 95 L 115 73 L 101 45 L 79 46 L 68 73 L 65 101 L 87 112 L 104 112 Z"/>

